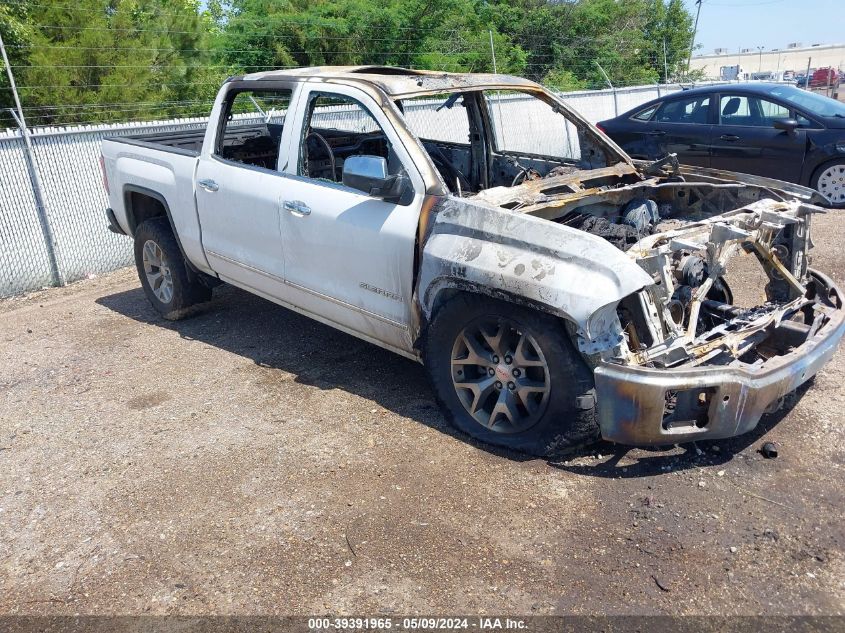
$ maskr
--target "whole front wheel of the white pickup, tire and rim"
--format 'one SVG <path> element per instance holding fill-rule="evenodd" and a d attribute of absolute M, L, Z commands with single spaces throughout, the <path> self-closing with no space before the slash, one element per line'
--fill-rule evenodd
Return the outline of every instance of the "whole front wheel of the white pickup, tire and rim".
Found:
<path fill-rule="evenodd" d="M 592 372 L 556 317 L 457 295 L 437 311 L 423 355 L 447 419 L 482 442 L 549 456 L 599 437 Z"/>

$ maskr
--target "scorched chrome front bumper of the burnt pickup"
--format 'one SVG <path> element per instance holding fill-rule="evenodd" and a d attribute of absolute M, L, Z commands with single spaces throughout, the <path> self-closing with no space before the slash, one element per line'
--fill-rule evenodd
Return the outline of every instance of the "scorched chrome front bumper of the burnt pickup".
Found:
<path fill-rule="evenodd" d="M 770 358 L 759 369 L 652 369 L 601 364 L 595 371 L 595 382 L 602 437 L 646 446 L 733 437 L 752 430 L 767 409 L 831 359 L 845 335 L 842 293 L 825 275 L 811 273 L 826 287 L 828 296 L 838 298 L 839 309 L 800 347 Z M 680 424 L 667 418 L 667 393 L 673 392 L 699 403 L 701 415 Z"/>

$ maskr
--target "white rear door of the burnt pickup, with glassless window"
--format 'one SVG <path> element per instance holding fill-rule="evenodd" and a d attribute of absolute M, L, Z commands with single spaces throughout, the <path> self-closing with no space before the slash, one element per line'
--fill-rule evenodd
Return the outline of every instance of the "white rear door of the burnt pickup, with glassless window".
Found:
<path fill-rule="evenodd" d="M 221 278 L 279 297 L 284 290 L 281 201 L 290 177 L 278 169 L 292 89 L 233 85 L 212 151 L 200 157 L 196 198 L 202 243 Z"/>

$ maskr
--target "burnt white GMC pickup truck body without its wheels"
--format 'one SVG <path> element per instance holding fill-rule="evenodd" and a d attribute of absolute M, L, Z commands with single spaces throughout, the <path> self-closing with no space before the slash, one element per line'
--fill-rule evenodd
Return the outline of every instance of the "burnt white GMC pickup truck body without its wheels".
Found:
<path fill-rule="evenodd" d="M 261 91 L 284 95 L 285 108 L 259 108 L 262 120 L 238 128 L 237 99 Z M 496 122 L 513 94 L 530 97 L 520 106 L 520 124 L 536 135 L 527 145 Z M 432 138 L 415 133 L 421 99 L 440 100 L 437 120 L 468 117 L 466 142 L 432 140 L 437 124 Z M 337 104 L 363 118 L 318 124 L 343 110 Z M 532 119 L 537 108 L 545 118 Z M 558 119 L 565 124 L 555 128 Z M 538 149 L 564 138 L 564 157 Z M 561 319 L 595 370 L 590 398 L 608 439 L 665 444 L 753 428 L 845 332 L 837 298 L 814 308 L 824 327 L 802 325 L 823 344 L 754 363 L 744 347 L 758 345 L 763 330 L 777 339 L 781 321 L 816 292 L 812 284 L 838 297 L 806 268 L 809 216 L 825 202 L 818 194 L 669 159 L 634 163 L 560 99 L 516 77 L 378 67 L 257 73 L 224 84 L 202 138 L 106 139 L 102 152 L 112 229 L 135 235 L 166 215 L 192 279 L 227 282 L 415 360 L 456 294 Z M 378 177 L 365 173 L 373 165 Z M 654 234 L 658 209 L 688 226 Z M 585 228 L 585 219 L 604 228 Z M 618 242 L 632 231 L 637 244 Z M 753 325 L 728 305 L 728 290 L 713 294 L 719 278 L 706 277 L 740 247 L 757 249 L 780 284 L 777 305 Z M 685 286 L 678 266 L 690 257 L 705 272 Z M 717 309 L 730 327 L 704 332 L 715 318 L 707 310 Z M 642 314 L 629 319 L 631 311 Z M 505 369 L 491 365 L 490 376 Z M 663 400 L 683 389 L 705 393 L 707 424 L 700 412 L 692 426 L 667 424 Z"/>

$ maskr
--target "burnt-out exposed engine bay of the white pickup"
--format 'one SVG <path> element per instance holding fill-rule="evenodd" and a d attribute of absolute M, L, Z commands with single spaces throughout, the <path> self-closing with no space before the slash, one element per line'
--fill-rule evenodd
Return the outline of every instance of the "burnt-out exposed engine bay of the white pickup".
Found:
<path fill-rule="evenodd" d="M 476 199 L 600 236 L 653 280 L 605 315 L 594 360 L 675 368 L 760 366 L 800 346 L 836 310 L 807 269 L 811 215 L 822 209 L 741 183 L 636 177 L 629 167 L 498 187 Z M 626 173 L 628 172 L 628 173 Z M 734 303 L 725 274 L 742 254 L 765 272 L 765 302 Z M 596 344 L 596 339 L 604 341 Z"/>

